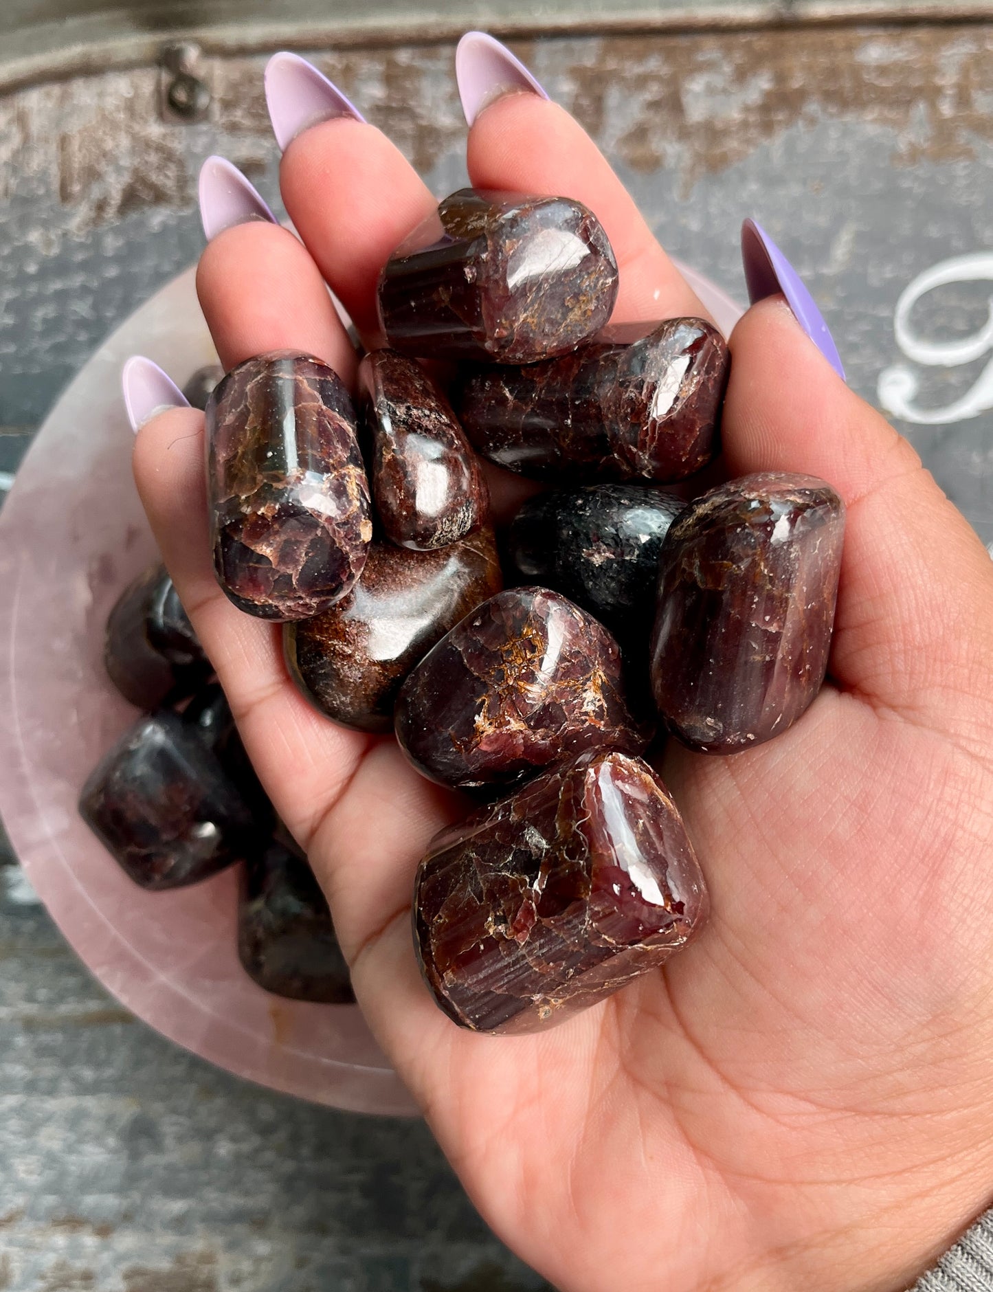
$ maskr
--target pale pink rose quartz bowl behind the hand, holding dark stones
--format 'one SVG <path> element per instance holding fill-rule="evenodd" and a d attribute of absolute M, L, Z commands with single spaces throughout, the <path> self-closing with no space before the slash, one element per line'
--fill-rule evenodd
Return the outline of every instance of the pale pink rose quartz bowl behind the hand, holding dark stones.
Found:
<path fill-rule="evenodd" d="M 726 333 L 740 309 L 682 271 Z M 103 671 L 103 627 L 155 545 L 130 474 L 120 370 L 146 354 L 182 385 L 216 362 L 190 269 L 87 363 L 39 432 L 0 513 L 0 815 L 76 953 L 128 1009 L 238 1076 L 358 1112 L 413 1102 L 355 1005 L 271 996 L 236 953 L 238 873 L 146 893 L 76 811 L 136 711 Z"/>

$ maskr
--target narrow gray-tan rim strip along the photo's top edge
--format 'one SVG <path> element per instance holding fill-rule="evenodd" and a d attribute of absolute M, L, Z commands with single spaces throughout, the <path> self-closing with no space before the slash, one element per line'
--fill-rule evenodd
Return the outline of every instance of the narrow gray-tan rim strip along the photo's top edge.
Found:
<path fill-rule="evenodd" d="M 6 0 L 0 88 L 154 62 L 163 40 L 213 52 L 498 36 L 762 27 L 776 23 L 984 21 L 990 0 Z"/>

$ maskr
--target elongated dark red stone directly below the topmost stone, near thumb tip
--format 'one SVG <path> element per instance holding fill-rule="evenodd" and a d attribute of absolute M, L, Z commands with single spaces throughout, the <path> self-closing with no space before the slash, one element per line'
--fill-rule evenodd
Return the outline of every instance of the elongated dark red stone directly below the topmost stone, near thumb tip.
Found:
<path fill-rule="evenodd" d="M 715 328 L 666 319 L 604 328 L 546 363 L 470 371 L 452 398 L 469 439 L 498 466 L 559 482 L 665 483 L 717 452 L 730 371 Z"/>

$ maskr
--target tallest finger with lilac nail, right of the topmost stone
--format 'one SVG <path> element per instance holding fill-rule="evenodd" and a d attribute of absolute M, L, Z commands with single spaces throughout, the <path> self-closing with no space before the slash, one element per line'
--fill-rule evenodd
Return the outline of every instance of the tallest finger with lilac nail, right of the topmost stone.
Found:
<path fill-rule="evenodd" d="M 458 43 L 456 75 L 476 187 L 559 195 L 589 207 L 617 257 L 616 319 L 709 318 L 597 145 L 509 49 L 470 31 Z"/>

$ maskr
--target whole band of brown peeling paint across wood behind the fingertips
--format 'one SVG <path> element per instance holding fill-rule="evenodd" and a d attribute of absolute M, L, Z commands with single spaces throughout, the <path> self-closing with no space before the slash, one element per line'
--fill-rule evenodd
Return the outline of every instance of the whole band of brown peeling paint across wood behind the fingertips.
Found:
<path fill-rule="evenodd" d="M 554 87 L 586 128 L 635 172 L 675 171 L 688 193 L 799 124 L 857 119 L 894 132 L 892 164 L 971 159 L 993 138 L 990 28 L 802 28 L 571 41 L 582 57 Z M 532 62 L 550 47 L 520 43 Z M 536 50 L 540 50 L 536 57 Z M 445 47 L 345 49 L 316 65 L 421 171 L 464 134 Z M 232 160 L 261 173 L 271 155 L 263 59 L 207 58 L 210 127 L 234 138 Z M 54 102 L 53 102 L 54 94 Z M 10 168 L 54 164 L 74 229 L 194 200 L 194 128 L 161 121 L 156 72 L 138 68 L 22 90 L 0 99 L 0 198 Z M 66 125 L 50 132 L 52 119 Z M 10 129 L 4 127 L 9 125 Z M 5 176 L 6 173 L 6 176 Z"/>

